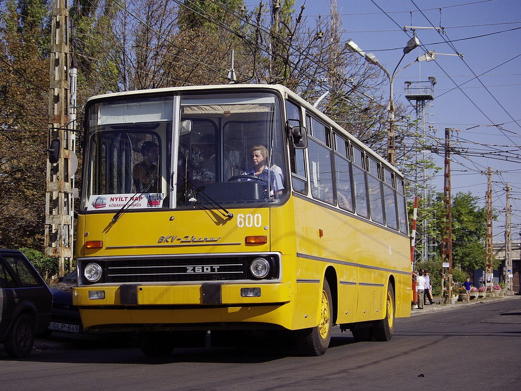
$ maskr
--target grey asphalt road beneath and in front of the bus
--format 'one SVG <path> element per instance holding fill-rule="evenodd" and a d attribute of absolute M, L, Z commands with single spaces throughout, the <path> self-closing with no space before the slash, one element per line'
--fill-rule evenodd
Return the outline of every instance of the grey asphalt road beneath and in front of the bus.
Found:
<path fill-rule="evenodd" d="M 0 346 L 0 390 L 519 390 L 521 297 L 432 306 L 396 321 L 390 342 L 334 329 L 322 357 L 249 348 L 176 349 L 165 360 L 110 339 L 39 339 L 31 356 Z"/>

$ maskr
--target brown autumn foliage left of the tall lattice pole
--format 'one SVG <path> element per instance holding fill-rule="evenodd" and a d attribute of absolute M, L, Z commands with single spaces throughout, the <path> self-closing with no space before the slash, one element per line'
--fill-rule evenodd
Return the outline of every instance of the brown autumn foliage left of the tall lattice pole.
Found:
<path fill-rule="evenodd" d="M 47 1 L 2 6 L 0 247 L 43 248 L 49 17 Z"/>

